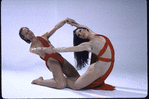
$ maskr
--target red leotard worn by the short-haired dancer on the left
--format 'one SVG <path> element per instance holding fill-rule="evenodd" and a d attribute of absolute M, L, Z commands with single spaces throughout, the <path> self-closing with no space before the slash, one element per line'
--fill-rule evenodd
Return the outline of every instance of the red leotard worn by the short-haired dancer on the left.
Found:
<path fill-rule="evenodd" d="M 37 38 L 42 42 L 44 47 L 50 47 L 50 45 L 48 44 L 48 42 L 45 39 L 43 39 L 42 37 L 39 37 L 39 36 L 37 36 Z M 48 69 L 49 69 L 49 67 L 47 65 L 47 61 L 50 57 L 56 59 L 60 63 L 61 66 L 63 65 L 64 59 L 59 53 L 45 54 L 44 58 L 42 58 L 42 57 L 40 57 L 40 58 L 46 62 L 46 66 Z"/>

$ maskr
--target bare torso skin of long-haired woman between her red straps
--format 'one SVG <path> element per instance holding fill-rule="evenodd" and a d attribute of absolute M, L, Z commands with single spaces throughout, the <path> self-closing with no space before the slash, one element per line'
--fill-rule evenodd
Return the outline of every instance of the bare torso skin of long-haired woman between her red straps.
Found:
<path fill-rule="evenodd" d="M 100 51 L 105 46 L 106 42 L 107 42 L 107 40 L 104 37 L 96 35 L 95 38 L 91 41 L 92 52 L 98 56 Z M 107 48 L 104 50 L 104 53 L 100 57 L 111 59 L 112 54 L 113 53 L 111 52 L 111 48 L 108 45 Z M 111 61 L 105 62 L 102 60 L 98 60 L 96 63 L 93 64 L 94 67 L 97 67 L 98 69 L 100 69 L 100 71 L 101 71 L 100 76 L 103 76 L 106 73 L 106 71 L 109 69 L 110 65 L 111 65 Z"/>

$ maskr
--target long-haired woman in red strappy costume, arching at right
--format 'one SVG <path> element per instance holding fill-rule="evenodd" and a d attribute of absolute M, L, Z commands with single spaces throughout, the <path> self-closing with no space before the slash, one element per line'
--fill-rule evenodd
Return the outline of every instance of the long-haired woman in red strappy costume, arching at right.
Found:
<path fill-rule="evenodd" d="M 73 21 L 67 21 L 68 24 L 76 26 L 74 30 L 74 46 L 61 47 L 61 48 L 42 48 L 39 49 L 45 53 L 51 54 L 55 52 L 75 52 L 77 66 L 82 68 L 87 63 L 87 56 L 84 54 L 88 52 L 93 53 L 91 65 L 87 71 L 80 76 L 77 80 L 66 79 L 67 87 L 78 89 L 101 89 L 101 90 L 115 90 L 114 86 L 105 84 L 105 79 L 109 76 L 114 65 L 114 48 L 110 40 L 100 34 L 94 33 L 88 27 L 80 25 Z M 83 51 L 83 52 L 82 52 Z M 79 54 L 77 54 L 79 52 Z M 82 57 L 81 57 L 82 56 Z"/>

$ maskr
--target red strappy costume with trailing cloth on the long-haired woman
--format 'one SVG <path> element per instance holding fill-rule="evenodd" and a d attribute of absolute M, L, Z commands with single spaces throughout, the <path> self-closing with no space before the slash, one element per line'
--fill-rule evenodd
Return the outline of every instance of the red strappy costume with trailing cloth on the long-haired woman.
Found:
<path fill-rule="evenodd" d="M 96 34 L 96 36 L 102 36 L 106 39 L 106 43 L 104 45 L 104 47 L 101 49 L 101 51 L 98 54 L 98 60 L 100 61 L 104 61 L 104 62 L 111 62 L 111 65 L 109 67 L 109 69 L 107 70 L 107 72 L 99 77 L 97 80 L 95 80 L 94 82 L 92 82 L 90 85 L 88 85 L 87 87 L 83 88 L 83 89 L 96 89 L 96 90 L 115 90 L 115 87 L 109 84 L 105 84 L 104 81 L 106 80 L 106 78 L 109 76 L 109 74 L 111 73 L 112 69 L 113 69 L 113 65 L 114 65 L 114 48 L 110 42 L 110 40 L 103 35 L 99 35 Z M 106 51 L 108 45 L 110 46 L 111 49 L 111 59 L 108 58 L 103 58 L 101 57 L 104 52 Z"/>

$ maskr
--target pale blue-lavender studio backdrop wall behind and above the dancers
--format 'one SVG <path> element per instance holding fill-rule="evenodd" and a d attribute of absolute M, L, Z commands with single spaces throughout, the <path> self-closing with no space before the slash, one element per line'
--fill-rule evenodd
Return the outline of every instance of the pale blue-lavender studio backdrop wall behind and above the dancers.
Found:
<path fill-rule="evenodd" d="M 20 39 L 19 29 L 29 27 L 38 36 L 67 17 L 111 40 L 115 76 L 137 77 L 147 84 L 146 0 L 2 0 L 2 70 L 44 67 L 44 62 L 29 52 L 30 45 Z M 49 40 L 55 47 L 73 46 L 74 29 L 65 24 Z M 75 65 L 73 53 L 62 55 Z"/>

